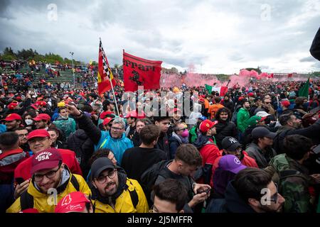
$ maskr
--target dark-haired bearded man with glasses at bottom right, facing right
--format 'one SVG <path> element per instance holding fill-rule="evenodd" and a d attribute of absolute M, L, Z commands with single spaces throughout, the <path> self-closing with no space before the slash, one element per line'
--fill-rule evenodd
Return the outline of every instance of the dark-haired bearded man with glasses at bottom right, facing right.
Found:
<path fill-rule="evenodd" d="M 261 193 L 264 192 L 265 194 Z M 267 193 L 267 194 L 266 194 Z M 267 196 L 270 195 L 270 196 Z M 225 190 L 225 199 L 213 199 L 208 213 L 282 212 L 285 199 L 265 170 L 247 167 L 238 172 Z"/>

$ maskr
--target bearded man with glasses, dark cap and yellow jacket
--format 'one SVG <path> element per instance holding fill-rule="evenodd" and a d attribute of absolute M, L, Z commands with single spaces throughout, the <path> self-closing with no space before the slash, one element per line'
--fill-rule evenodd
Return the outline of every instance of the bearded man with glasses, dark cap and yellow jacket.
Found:
<path fill-rule="evenodd" d="M 95 213 L 147 213 L 149 206 L 139 182 L 127 178 L 107 157 L 91 165 L 92 204 Z"/>

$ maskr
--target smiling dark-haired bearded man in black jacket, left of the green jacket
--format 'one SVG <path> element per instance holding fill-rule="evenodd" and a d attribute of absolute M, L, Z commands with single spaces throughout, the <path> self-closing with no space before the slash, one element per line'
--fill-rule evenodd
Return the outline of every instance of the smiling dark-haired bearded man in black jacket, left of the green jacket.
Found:
<path fill-rule="evenodd" d="M 226 107 L 219 109 L 215 114 L 215 120 L 218 121 L 215 125 L 217 131 L 217 134 L 215 135 L 215 142 L 219 149 L 222 149 L 221 142 L 226 136 L 238 138 L 237 127 L 235 126 L 235 123 L 230 121 L 231 115 L 231 111 Z"/>

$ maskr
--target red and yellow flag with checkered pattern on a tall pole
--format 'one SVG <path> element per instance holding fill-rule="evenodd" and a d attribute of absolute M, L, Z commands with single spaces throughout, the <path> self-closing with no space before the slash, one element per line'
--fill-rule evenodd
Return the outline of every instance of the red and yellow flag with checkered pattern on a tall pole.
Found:
<path fill-rule="evenodd" d="M 113 78 L 107 56 L 105 55 L 105 50 L 102 48 L 102 42 L 100 40 L 99 45 L 99 60 L 98 60 L 98 93 L 102 96 L 105 92 L 110 91 L 111 82 L 112 86 L 116 85 L 116 81 Z"/>

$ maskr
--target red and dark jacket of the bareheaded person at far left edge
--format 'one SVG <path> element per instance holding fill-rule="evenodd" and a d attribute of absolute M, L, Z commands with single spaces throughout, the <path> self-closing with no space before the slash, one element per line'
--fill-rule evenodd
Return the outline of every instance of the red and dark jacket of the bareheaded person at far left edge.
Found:
<path fill-rule="evenodd" d="M 29 154 L 21 148 L 10 150 L 0 155 L 0 182 L 1 184 L 11 184 L 14 179 L 16 167 L 28 159 Z"/>

